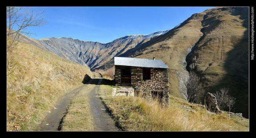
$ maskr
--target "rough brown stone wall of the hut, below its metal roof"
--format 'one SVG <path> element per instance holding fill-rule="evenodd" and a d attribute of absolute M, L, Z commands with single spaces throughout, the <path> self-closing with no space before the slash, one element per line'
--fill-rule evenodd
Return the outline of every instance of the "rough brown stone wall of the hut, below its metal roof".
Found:
<path fill-rule="evenodd" d="M 131 86 L 135 90 L 144 92 L 162 91 L 162 100 L 165 105 L 169 103 L 169 78 L 168 69 L 150 68 L 151 79 L 143 80 L 142 67 L 115 65 L 115 84 L 121 86 L 121 69 L 131 69 Z M 166 104 L 167 103 L 167 104 Z"/>

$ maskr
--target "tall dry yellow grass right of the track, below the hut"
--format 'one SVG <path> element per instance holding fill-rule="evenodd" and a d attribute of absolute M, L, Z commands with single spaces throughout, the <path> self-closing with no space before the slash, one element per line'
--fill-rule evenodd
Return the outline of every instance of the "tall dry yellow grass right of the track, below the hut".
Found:
<path fill-rule="evenodd" d="M 104 80 L 103 80 L 104 81 Z M 226 114 L 210 114 L 203 106 L 170 96 L 169 107 L 141 97 L 111 96 L 112 88 L 100 85 L 99 95 L 125 131 L 248 131 Z M 187 111 L 180 105 L 191 108 Z"/>

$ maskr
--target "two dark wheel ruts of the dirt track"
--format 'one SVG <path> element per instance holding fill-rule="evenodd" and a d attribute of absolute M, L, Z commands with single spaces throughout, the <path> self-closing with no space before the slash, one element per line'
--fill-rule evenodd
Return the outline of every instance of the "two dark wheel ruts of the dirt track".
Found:
<path fill-rule="evenodd" d="M 71 99 L 84 87 L 87 86 L 93 79 L 99 79 L 97 85 L 89 93 L 90 97 L 90 109 L 91 115 L 94 120 L 94 130 L 95 131 L 119 131 L 118 127 L 115 126 L 114 120 L 111 115 L 104 107 L 103 103 L 97 96 L 97 91 L 99 90 L 99 85 L 102 81 L 102 77 L 99 73 L 94 73 L 94 77 L 90 79 L 86 84 L 74 89 L 73 91 L 67 93 L 63 96 L 53 109 L 48 112 L 48 115 L 42 121 L 40 125 L 36 128 L 36 131 L 58 131 L 60 121 L 65 114 Z"/>

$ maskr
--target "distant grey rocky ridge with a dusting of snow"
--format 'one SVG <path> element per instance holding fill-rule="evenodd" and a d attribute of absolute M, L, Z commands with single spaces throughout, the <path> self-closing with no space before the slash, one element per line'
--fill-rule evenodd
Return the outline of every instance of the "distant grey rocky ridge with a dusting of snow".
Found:
<path fill-rule="evenodd" d="M 65 37 L 35 40 L 26 36 L 23 41 L 32 43 L 36 47 L 51 51 L 58 56 L 65 57 L 82 65 L 88 65 L 94 70 L 102 66 L 103 62 L 111 60 L 114 56 L 121 55 L 134 47 L 140 48 L 140 45 L 168 31 L 158 31 L 146 35 L 127 35 L 109 43 L 83 41 Z"/>

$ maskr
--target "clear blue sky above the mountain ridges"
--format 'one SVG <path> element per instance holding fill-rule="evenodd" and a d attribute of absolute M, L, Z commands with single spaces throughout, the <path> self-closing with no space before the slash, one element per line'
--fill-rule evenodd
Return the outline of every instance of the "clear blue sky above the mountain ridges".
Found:
<path fill-rule="evenodd" d="M 108 43 L 132 34 L 169 30 L 214 7 L 31 7 L 45 9 L 47 24 L 29 27 L 35 39 L 71 37 Z M 43 15 L 43 16 L 44 16 Z"/>

